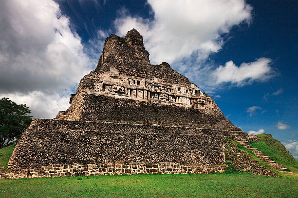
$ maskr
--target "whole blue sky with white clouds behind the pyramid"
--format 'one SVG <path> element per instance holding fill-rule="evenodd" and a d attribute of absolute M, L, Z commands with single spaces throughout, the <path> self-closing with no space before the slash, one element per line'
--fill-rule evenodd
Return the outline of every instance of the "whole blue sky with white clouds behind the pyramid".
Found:
<path fill-rule="evenodd" d="M 54 117 L 103 42 L 136 28 L 235 126 L 271 133 L 298 159 L 297 0 L 11 0 L 0 8 L 0 96 Z"/>

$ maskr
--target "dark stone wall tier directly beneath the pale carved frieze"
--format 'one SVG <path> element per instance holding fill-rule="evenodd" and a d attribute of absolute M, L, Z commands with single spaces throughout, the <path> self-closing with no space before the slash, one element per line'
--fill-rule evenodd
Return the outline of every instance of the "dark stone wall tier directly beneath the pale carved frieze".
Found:
<path fill-rule="evenodd" d="M 207 129 L 241 131 L 224 117 L 222 113 L 197 110 L 178 106 L 140 102 L 131 99 L 115 99 L 100 95 L 83 95 L 83 111 L 79 120 L 111 121 L 124 123 L 145 123 L 161 125 L 192 126 Z M 74 113 L 65 113 L 57 119 L 74 120 Z"/>

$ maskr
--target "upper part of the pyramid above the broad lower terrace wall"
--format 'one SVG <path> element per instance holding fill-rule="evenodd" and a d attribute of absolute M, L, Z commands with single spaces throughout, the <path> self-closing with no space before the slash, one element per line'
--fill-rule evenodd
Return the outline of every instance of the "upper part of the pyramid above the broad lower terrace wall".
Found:
<path fill-rule="evenodd" d="M 178 114 L 175 113 L 176 116 L 172 116 L 160 111 L 160 108 L 173 111 L 171 107 L 158 106 L 155 113 L 149 112 L 147 106 L 143 107 L 143 111 L 134 111 L 136 110 L 134 109 L 128 112 L 130 108 L 127 105 L 119 104 L 116 106 L 117 109 L 123 108 L 122 113 L 114 114 L 111 105 L 108 103 L 106 105 L 106 102 L 100 101 L 106 97 L 132 99 L 135 100 L 136 104 L 143 101 L 193 109 L 188 110 L 192 111 L 191 114 L 184 115 L 185 111 L 181 111 Z M 111 99 L 109 98 L 109 100 Z M 82 79 L 70 103 L 71 107 L 64 112 L 59 112 L 56 119 L 86 121 L 112 119 L 115 121 L 116 118 L 112 117 L 119 116 L 118 119 L 120 120 L 117 119 L 117 121 L 137 121 L 150 124 L 163 122 L 170 125 L 182 123 L 184 126 L 210 125 L 210 127 L 214 124 L 222 124 L 222 128 L 233 127 L 223 116 L 213 99 L 202 92 L 197 85 L 189 82 L 185 76 L 173 70 L 168 63 L 151 65 L 149 52 L 144 48 L 143 38 L 135 29 L 129 31 L 125 38 L 111 35 L 106 39 L 95 71 Z M 87 103 L 90 107 L 86 106 Z M 101 118 L 100 115 L 105 111 L 96 111 L 99 107 L 95 108 L 93 106 L 95 104 L 101 108 L 106 108 L 107 113 L 111 115 Z M 152 105 L 150 111 L 152 111 L 151 109 Z M 194 109 L 202 111 L 194 111 Z M 139 117 L 141 114 L 144 115 L 142 119 Z M 157 114 L 159 117 L 156 117 Z M 211 121 L 211 118 L 202 122 L 198 118 L 198 114 L 202 114 L 200 117 L 209 115 L 217 117 L 216 121 L 213 119 L 217 123 L 208 123 L 207 120 Z"/>

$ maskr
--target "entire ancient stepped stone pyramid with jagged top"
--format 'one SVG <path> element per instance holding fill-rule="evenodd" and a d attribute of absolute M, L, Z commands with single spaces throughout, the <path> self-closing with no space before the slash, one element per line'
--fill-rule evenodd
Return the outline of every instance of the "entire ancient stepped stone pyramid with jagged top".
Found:
<path fill-rule="evenodd" d="M 240 170 L 270 173 L 226 143 L 254 138 L 210 96 L 168 63 L 150 64 L 135 29 L 106 39 L 70 104 L 55 119 L 32 121 L 0 178 L 223 172 L 231 153 Z"/>

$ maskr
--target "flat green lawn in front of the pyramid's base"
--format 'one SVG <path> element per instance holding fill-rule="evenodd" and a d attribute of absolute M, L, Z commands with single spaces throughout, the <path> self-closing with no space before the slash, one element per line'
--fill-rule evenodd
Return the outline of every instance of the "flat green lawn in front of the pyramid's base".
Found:
<path fill-rule="evenodd" d="M 297 175 L 120 175 L 0 180 L 1 198 L 297 198 Z"/>

